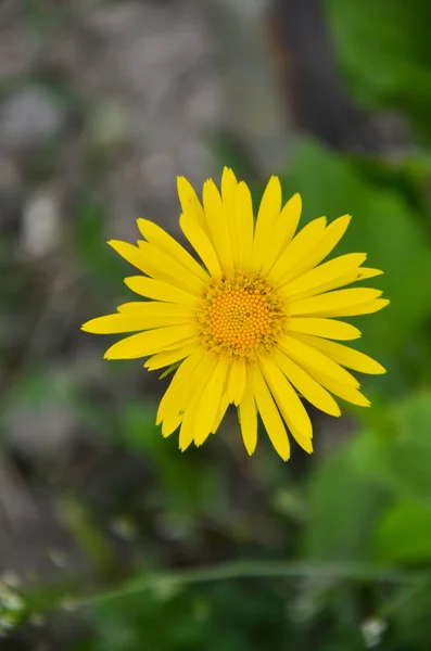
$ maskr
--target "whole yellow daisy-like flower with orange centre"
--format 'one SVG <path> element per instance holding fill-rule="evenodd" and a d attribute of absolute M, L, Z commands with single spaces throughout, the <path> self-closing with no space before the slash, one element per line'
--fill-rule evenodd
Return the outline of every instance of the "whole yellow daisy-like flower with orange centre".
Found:
<path fill-rule="evenodd" d="M 111 246 L 143 276 L 126 285 L 150 301 L 126 303 L 115 315 L 92 319 L 83 330 L 131 333 L 111 346 L 106 359 L 147 357 L 150 371 L 178 365 L 163 396 L 157 423 L 168 436 L 179 430 L 181 450 L 202 445 L 218 429 L 229 404 L 238 407 L 245 448 L 257 442 L 257 413 L 282 459 L 290 457 L 287 429 L 307 452 L 313 429 L 301 397 L 340 416 L 333 395 L 368 406 L 347 369 L 384 373 L 370 357 L 337 341 L 360 332 L 337 317 L 378 311 L 389 301 L 369 288 L 340 289 L 382 271 L 362 267 L 364 253 L 322 260 L 344 234 L 351 217 L 327 226 L 325 217 L 296 235 L 301 196 L 282 207 L 271 177 L 254 219 L 248 186 L 225 168 L 221 192 L 212 180 L 203 205 L 178 179 L 180 228 L 201 266 L 176 240 L 138 219 L 138 246 Z"/>

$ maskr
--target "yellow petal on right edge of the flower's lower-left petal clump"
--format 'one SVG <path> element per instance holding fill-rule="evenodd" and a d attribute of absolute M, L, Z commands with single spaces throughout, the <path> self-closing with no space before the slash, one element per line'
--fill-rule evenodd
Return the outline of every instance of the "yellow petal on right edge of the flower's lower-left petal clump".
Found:
<path fill-rule="evenodd" d="M 194 423 L 194 443 L 198 446 L 202 445 L 212 432 L 225 393 L 228 370 L 229 361 L 221 358 L 217 361 L 210 379 L 206 380 Z"/>

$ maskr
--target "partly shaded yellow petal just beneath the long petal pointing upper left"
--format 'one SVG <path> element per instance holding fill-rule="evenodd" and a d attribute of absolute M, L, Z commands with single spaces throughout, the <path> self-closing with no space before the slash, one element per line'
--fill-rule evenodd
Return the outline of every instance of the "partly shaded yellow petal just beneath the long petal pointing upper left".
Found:
<path fill-rule="evenodd" d="M 149 265 L 149 276 L 153 276 L 155 280 L 167 280 L 172 284 L 178 285 L 180 289 L 197 295 L 202 293 L 205 281 L 191 273 L 186 267 L 177 263 L 175 258 L 163 253 L 154 244 L 141 240 L 138 244 L 145 265 Z"/>

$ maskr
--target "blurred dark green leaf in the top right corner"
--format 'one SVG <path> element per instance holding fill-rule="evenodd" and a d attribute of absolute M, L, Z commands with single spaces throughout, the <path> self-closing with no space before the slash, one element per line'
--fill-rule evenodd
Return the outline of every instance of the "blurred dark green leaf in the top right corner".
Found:
<path fill-rule="evenodd" d="M 429 132 L 428 0 L 326 0 L 326 7 L 341 67 L 357 99 L 404 108 Z"/>

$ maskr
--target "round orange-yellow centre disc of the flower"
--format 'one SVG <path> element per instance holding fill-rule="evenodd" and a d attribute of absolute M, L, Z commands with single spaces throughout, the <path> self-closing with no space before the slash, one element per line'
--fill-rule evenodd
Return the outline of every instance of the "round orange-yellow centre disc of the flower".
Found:
<path fill-rule="evenodd" d="M 237 272 L 213 281 L 202 296 L 198 320 L 204 346 L 226 357 L 255 359 L 279 340 L 287 315 L 263 278 Z"/>

